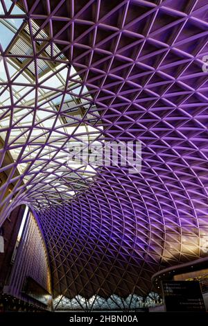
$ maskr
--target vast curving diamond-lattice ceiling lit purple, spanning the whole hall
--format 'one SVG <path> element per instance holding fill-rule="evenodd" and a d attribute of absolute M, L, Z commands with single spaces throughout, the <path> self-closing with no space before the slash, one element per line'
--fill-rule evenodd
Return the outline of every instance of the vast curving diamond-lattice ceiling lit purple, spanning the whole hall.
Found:
<path fill-rule="evenodd" d="M 23 21 L 1 49 L 6 80 L 0 96 L 10 95 L 0 115 L 0 124 L 8 117 L 8 125 L 1 124 L 0 171 L 8 171 L 1 221 L 20 203 L 35 209 L 55 295 L 144 295 L 162 266 L 207 255 L 207 1 L 17 3 Z M 12 7 L 2 8 L 0 18 L 17 19 Z M 17 46 L 18 37 L 28 42 L 27 51 Z M 10 61 L 31 80 L 12 77 Z M 60 67 L 68 69 L 62 85 L 45 85 L 44 76 L 57 77 Z M 24 87 L 19 98 L 17 86 Z M 60 102 L 51 104 L 53 97 Z M 32 117 L 19 126 L 28 116 L 23 109 Z M 77 135 L 67 132 L 74 126 L 81 128 Z M 65 145 L 89 135 L 86 126 L 98 139 L 140 140 L 141 172 L 66 166 Z"/>

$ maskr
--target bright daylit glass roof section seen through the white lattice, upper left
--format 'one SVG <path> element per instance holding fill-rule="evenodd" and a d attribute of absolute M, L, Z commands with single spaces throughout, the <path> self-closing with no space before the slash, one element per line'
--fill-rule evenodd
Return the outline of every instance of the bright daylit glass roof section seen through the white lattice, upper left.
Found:
<path fill-rule="evenodd" d="M 6 1 L 7 10 L 10 9 L 11 5 L 12 1 Z M 17 6 L 14 7 L 12 13 L 23 15 Z M 92 176 L 96 175 L 96 166 L 93 167 L 92 164 L 83 166 L 76 162 L 67 163 L 69 151 L 67 143 L 70 137 L 80 144 L 79 138 L 87 136 L 89 131 L 91 132 L 90 139 L 96 138 L 99 134 L 96 128 L 89 128 L 85 123 L 87 121 L 85 112 L 89 110 L 92 98 L 89 94 L 87 95 L 89 101 L 82 98 L 84 93 L 80 94 L 82 90 L 80 77 L 76 70 L 69 66 L 64 55 L 59 55 L 59 60 L 64 60 L 65 63 L 54 63 L 39 58 L 35 65 L 33 58 L 28 57 L 28 55 L 33 55 L 28 25 L 26 24 L 23 30 L 15 35 L 22 22 L 22 16 L 19 19 L 10 19 L 9 21 L 8 19 L 0 19 L 1 31 L 3 31 L 0 35 L 0 42 L 3 51 L 7 49 L 7 52 L 3 54 L 5 65 L 3 60 L 0 61 L 0 83 L 8 82 L 6 68 L 9 78 L 12 80 L 10 89 L 8 86 L 0 85 L 0 103 L 1 107 L 6 108 L 14 103 L 12 116 L 10 110 L 6 112 L 6 108 L 1 108 L 1 137 L 6 139 L 6 133 L 10 132 L 8 137 L 10 154 L 14 161 L 18 161 L 19 173 L 28 171 L 28 174 L 24 176 L 26 185 L 34 178 L 34 171 L 40 171 L 36 178 L 40 178 L 42 175 L 46 187 L 47 180 L 48 182 L 50 180 L 50 187 L 52 185 L 58 190 L 63 198 L 64 196 L 71 198 L 78 189 L 86 187 L 84 180 L 91 182 Z M 36 33 L 38 26 L 33 20 L 31 22 L 33 33 Z M 47 34 L 45 31 L 41 31 L 39 37 L 45 38 Z M 37 42 L 37 47 L 40 48 L 40 46 L 42 46 L 42 42 Z M 54 45 L 53 51 L 55 54 L 60 53 L 56 45 Z M 44 52 L 44 57 L 47 55 L 51 55 L 49 47 Z M 37 67 L 37 71 L 35 67 Z M 67 81 L 69 71 L 70 76 L 69 81 Z M 79 83 L 76 83 L 76 80 Z M 66 83 L 67 93 L 64 93 Z M 84 92 L 86 96 L 88 93 L 86 87 L 84 87 Z M 77 95 L 79 98 L 76 97 Z M 12 123 L 12 129 L 9 131 L 10 123 Z M 88 139 L 88 137 L 85 138 Z M 51 144 L 53 141 L 54 146 L 46 147 L 46 141 Z M 39 146 L 36 149 L 34 148 L 35 144 Z M 24 155 L 22 154 L 22 146 L 24 146 Z M 22 160 L 23 157 L 24 160 Z M 45 169 L 43 162 L 52 166 L 49 168 L 51 170 Z M 51 179 L 49 171 L 53 173 L 53 162 L 56 164 L 56 171 L 54 178 Z M 60 178 L 64 173 L 62 166 L 65 170 L 72 171 L 75 169 L 76 171 L 73 175 L 71 172 L 69 173 L 69 180 L 64 181 L 65 183 L 63 182 L 64 179 L 57 182 L 57 178 Z M 60 172 L 58 172 L 59 169 Z M 33 171 L 33 173 L 29 171 Z M 46 171 L 47 174 L 44 174 Z"/>

